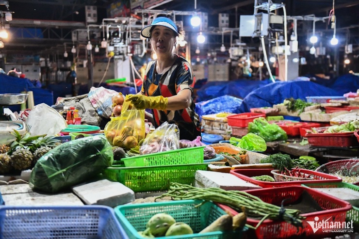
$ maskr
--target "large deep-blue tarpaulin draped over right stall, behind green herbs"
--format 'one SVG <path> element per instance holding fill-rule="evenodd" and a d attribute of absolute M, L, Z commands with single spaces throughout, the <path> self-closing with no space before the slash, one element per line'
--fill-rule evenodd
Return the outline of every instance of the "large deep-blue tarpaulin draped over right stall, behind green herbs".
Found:
<path fill-rule="evenodd" d="M 341 95 L 343 94 L 333 89 L 307 80 L 274 82 L 249 93 L 243 100 L 240 112 L 250 112 L 250 108 L 273 107 L 290 97 L 306 100 L 306 96 Z"/>

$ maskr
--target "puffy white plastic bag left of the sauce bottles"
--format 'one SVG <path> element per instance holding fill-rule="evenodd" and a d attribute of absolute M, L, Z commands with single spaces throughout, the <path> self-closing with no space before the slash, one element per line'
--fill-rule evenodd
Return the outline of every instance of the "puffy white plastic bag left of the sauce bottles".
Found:
<path fill-rule="evenodd" d="M 32 136 L 53 136 L 67 127 L 65 119 L 55 109 L 42 103 L 36 105 L 26 120 L 26 129 Z"/>

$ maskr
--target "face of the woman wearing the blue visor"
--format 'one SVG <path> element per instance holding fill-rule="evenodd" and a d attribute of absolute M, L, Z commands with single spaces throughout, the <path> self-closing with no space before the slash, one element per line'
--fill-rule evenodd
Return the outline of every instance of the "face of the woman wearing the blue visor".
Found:
<path fill-rule="evenodd" d="M 151 33 L 151 45 L 158 55 L 171 55 L 175 46 L 175 33 L 163 26 L 155 26 Z"/>

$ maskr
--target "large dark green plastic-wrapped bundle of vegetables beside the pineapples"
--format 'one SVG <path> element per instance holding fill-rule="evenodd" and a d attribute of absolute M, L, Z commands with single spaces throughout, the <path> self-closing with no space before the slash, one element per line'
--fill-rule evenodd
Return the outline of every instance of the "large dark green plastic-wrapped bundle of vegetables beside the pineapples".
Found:
<path fill-rule="evenodd" d="M 36 162 L 29 186 L 46 192 L 65 190 L 100 174 L 113 162 L 112 146 L 104 135 L 69 141 Z"/>

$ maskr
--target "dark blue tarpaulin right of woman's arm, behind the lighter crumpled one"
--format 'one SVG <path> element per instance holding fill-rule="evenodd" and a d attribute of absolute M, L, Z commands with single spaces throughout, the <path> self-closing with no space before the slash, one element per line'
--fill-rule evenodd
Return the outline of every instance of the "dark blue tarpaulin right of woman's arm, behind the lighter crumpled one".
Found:
<path fill-rule="evenodd" d="M 272 82 L 271 80 L 230 80 L 207 82 L 197 91 L 196 102 L 219 96 L 245 98 L 253 90 Z"/>

